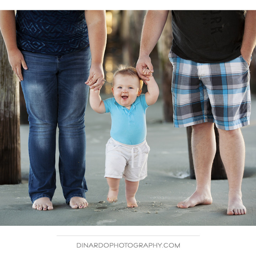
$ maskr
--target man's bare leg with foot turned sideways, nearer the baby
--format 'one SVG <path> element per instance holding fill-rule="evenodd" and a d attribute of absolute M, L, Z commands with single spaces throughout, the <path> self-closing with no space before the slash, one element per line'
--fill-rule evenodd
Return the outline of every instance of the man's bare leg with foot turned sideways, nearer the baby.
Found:
<path fill-rule="evenodd" d="M 188 208 L 197 204 L 211 204 L 210 181 L 212 163 L 216 153 L 213 123 L 201 123 L 192 127 L 191 147 L 196 175 L 196 191 L 177 207 Z"/>

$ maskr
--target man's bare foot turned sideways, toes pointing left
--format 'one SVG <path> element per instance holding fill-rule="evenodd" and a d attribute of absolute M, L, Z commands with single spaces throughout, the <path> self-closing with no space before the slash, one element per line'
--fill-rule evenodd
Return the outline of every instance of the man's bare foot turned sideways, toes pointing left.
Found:
<path fill-rule="evenodd" d="M 181 201 L 177 204 L 179 208 L 194 207 L 198 204 L 212 204 L 212 196 L 209 192 L 199 193 L 195 191 L 186 200 Z"/>

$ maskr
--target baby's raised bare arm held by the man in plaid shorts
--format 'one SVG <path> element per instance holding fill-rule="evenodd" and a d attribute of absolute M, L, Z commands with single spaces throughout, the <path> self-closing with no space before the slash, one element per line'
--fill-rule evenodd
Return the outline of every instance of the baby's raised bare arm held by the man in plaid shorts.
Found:
<path fill-rule="evenodd" d="M 143 73 L 145 76 L 147 76 L 149 78 L 147 82 L 147 86 L 148 86 L 148 91 L 145 94 L 145 100 L 148 106 L 153 105 L 157 99 L 158 99 L 158 95 L 159 95 L 159 88 L 158 88 L 158 84 L 156 83 L 152 73 L 149 71 L 149 69 L 143 69 Z"/>

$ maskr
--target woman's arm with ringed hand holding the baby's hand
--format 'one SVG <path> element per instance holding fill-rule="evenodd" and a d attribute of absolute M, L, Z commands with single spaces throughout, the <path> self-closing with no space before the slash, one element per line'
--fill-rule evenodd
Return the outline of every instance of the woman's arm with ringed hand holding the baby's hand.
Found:
<path fill-rule="evenodd" d="M 89 43 L 92 55 L 90 75 L 85 82 L 91 89 L 100 90 L 104 84 L 103 57 L 107 42 L 106 12 L 85 11 Z"/>

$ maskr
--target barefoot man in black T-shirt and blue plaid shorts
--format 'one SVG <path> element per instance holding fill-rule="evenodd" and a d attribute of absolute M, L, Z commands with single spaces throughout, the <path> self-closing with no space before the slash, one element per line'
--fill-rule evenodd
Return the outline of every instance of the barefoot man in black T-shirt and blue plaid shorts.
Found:
<path fill-rule="evenodd" d="M 142 29 L 137 70 L 153 72 L 149 57 L 169 11 L 148 11 Z M 210 180 L 216 151 L 229 182 L 228 215 L 246 213 L 241 183 L 245 146 L 240 127 L 250 121 L 251 54 L 256 44 L 256 11 L 172 11 L 172 97 L 175 127 L 192 126 L 192 155 L 196 191 L 177 207 L 211 204 Z"/>

